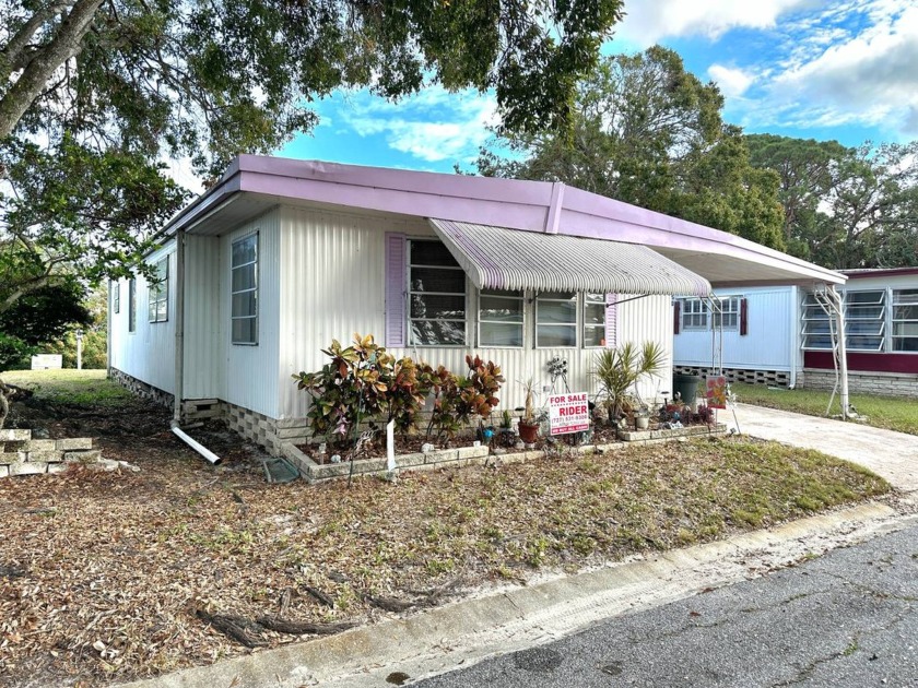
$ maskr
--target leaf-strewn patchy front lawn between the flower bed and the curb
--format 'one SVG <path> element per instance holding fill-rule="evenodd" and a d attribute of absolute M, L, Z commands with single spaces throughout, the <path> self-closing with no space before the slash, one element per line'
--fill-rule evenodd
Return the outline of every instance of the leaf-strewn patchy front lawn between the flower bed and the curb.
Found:
<path fill-rule="evenodd" d="M 244 446 L 216 447 L 215 468 L 174 438 L 167 412 L 131 408 L 67 423 L 104 428 L 105 455 L 139 473 L 0 479 L 2 685 L 103 685 L 248 652 L 201 614 L 278 645 L 305 636 L 242 619 L 372 622 L 890 490 L 843 461 L 746 439 L 268 485 Z"/>

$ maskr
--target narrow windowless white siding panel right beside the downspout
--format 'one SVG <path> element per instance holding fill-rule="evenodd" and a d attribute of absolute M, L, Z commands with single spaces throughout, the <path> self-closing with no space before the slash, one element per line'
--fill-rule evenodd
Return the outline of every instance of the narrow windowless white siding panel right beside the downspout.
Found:
<path fill-rule="evenodd" d="M 220 238 L 185 238 L 185 399 L 225 399 L 226 346 L 221 285 Z"/>

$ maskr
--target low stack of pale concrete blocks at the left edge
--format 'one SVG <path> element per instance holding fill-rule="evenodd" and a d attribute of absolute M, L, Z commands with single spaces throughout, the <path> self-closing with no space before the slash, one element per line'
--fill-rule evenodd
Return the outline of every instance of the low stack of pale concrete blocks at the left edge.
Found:
<path fill-rule="evenodd" d="M 34 440 L 32 430 L 0 430 L 0 478 L 61 473 L 68 463 L 95 463 L 102 459 L 89 437 Z"/>

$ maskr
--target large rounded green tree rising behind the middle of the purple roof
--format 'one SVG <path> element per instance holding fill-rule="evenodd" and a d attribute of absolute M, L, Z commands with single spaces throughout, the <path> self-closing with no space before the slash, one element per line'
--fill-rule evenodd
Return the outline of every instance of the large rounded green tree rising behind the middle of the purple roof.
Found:
<path fill-rule="evenodd" d="M 777 176 L 750 165 L 722 107 L 672 50 L 612 56 L 579 85 L 570 133 L 502 131 L 478 170 L 564 181 L 782 248 Z"/>

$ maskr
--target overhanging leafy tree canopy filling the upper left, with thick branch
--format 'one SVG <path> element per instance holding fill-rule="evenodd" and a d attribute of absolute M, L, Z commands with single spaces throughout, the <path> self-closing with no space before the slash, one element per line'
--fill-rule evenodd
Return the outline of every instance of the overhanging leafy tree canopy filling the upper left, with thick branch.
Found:
<path fill-rule="evenodd" d="M 62 266 L 140 266 L 186 201 L 164 157 L 212 180 L 368 86 L 493 88 L 511 131 L 564 129 L 622 0 L 0 0 L 0 310 Z M 4 262 L 4 261 L 10 262 Z"/>

